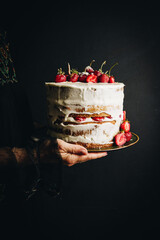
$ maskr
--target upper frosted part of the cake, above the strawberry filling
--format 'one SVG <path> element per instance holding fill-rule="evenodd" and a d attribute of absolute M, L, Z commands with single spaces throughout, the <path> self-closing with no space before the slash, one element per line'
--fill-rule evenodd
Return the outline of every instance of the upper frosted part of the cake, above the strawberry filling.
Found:
<path fill-rule="evenodd" d="M 118 118 L 123 111 L 123 83 L 45 83 L 52 124 L 59 116 L 101 113 Z"/>

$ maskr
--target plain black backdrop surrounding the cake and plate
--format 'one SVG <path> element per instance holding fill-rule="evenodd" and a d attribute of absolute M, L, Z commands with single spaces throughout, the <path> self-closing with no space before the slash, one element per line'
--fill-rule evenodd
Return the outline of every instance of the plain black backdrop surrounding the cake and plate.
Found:
<path fill-rule="evenodd" d="M 129 239 L 159 228 L 159 13 L 158 6 L 108 2 L 36 3 L 5 6 L 17 78 L 23 82 L 35 121 L 46 124 L 45 81 L 57 69 L 82 71 L 92 59 L 106 60 L 125 86 L 124 109 L 140 141 L 125 150 L 63 169 L 63 197 L 43 195 L 26 203 L 23 232 L 97 239 L 118 234 Z M 105 68 L 105 67 L 104 67 Z M 14 208 L 14 207 L 13 207 Z M 25 210 L 26 209 L 26 210 Z M 10 209 L 10 222 L 17 209 Z M 31 227 L 36 222 L 38 227 Z M 35 224 L 36 225 L 36 224 Z M 36 226 L 37 226 L 36 225 Z M 28 230 L 27 230 L 28 229 Z M 89 239 L 90 239 L 89 238 Z"/>

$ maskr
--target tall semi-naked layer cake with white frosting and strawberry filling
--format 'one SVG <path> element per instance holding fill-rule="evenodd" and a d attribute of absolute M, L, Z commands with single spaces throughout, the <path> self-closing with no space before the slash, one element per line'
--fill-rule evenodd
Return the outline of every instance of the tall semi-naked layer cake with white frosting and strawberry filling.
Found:
<path fill-rule="evenodd" d="M 123 121 L 123 83 L 46 82 L 50 134 L 87 148 L 113 144 Z"/>

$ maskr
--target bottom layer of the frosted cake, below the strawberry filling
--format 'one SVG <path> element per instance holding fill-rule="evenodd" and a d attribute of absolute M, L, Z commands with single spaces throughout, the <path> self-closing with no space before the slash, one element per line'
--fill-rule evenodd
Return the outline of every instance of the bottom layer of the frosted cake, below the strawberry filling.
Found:
<path fill-rule="evenodd" d="M 113 140 L 119 131 L 120 121 L 105 122 L 102 124 L 54 125 L 49 133 L 53 137 L 63 139 L 66 142 L 82 142 L 106 144 Z"/>

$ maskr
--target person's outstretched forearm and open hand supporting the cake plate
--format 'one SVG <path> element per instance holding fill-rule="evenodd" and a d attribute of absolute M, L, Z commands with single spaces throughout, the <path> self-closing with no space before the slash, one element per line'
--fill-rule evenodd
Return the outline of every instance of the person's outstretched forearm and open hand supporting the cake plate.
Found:
<path fill-rule="evenodd" d="M 33 155 L 35 158 L 37 157 L 36 149 L 33 149 Z M 107 153 L 88 153 L 87 149 L 80 145 L 66 143 L 61 139 L 57 139 L 57 145 L 55 145 L 55 142 L 46 139 L 40 146 L 40 162 L 54 163 L 57 161 L 56 155 L 60 155 L 65 165 L 73 166 L 77 163 L 104 157 Z M 0 166 L 12 164 L 13 158 L 15 158 L 19 165 L 32 164 L 25 148 L 0 148 Z"/>

